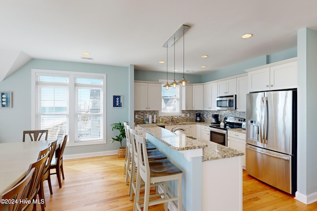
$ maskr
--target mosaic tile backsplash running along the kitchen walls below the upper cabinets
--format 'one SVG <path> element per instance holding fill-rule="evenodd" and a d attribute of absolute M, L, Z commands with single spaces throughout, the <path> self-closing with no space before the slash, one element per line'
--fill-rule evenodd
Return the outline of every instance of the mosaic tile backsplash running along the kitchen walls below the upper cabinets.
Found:
<path fill-rule="evenodd" d="M 246 118 L 245 111 L 232 111 L 232 110 L 182 110 L 185 117 L 176 116 L 177 119 L 173 119 L 173 122 L 188 122 L 188 121 L 195 121 L 196 113 L 201 113 L 202 121 L 211 122 L 211 114 L 219 114 L 219 120 L 223 119 L 225 116 L 236 116 L 241 118 Z M 159 116 L 158 110 L 136 110 L 134 111 L 134 117 L 137 115 L 138 118 L 134 118 L 134 122 L 136 124 L 142 124 L 143 120 L 146 120 L 148 123 L 149 118 L 147 114 L 152 114 L 152 122 L 154 121 L 154 114 L 156 114 L 156 122 L 159 122 L 159 119 L 162 122 L 169 122 L 171 116 Z M 189 117 L 187 117 L 189 114 Z"/>

